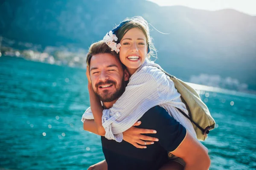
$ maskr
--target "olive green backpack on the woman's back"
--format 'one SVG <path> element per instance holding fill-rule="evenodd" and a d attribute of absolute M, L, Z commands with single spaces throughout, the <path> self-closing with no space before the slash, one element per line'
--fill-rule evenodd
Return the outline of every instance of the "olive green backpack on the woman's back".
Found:
<path fill-rule="evenodd" d="M 194 88 L 181 81 L 180 79 L 170 75 L 163 69 L 159 69 L 167 74 L 174 82 L 175 88 L 180 93 L 181 99 L 189 111 L 189 116 L 179 108 L 177 109 L 192 122 L 197 135 L 197 139 L 204 141 L 207 138 L 209 130 L 214 129 L 215 127 L 215 121 L 212 118 L 209 109 L 201 100 L 200 96 Z"/>

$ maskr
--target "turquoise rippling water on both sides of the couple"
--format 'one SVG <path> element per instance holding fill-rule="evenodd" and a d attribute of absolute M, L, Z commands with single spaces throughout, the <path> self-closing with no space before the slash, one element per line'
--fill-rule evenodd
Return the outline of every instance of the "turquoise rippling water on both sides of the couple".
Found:
<path fill-rule="evenodd" d="M 210 169 L 256 168 L 256 96 L 201 98 L 218 124 L 202 142 Z M 0 169 L 80 170 L 103 160 L 99 136 L 82 128 L 88 106 L 85 70 L 0 57 Z"/>

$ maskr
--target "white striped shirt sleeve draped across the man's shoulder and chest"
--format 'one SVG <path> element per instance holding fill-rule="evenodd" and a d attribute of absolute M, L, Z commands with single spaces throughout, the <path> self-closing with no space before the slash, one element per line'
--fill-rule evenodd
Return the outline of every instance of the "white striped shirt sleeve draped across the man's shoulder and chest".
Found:
<path fill-rule="evenodd" d="M 120 133 L 129 129 L 150 108 L 162 103 L 156 76 L 143 70 L 138 71 L 113 107 L 103 111 L 102 126 L 107 139 L 121 142 Z"/>

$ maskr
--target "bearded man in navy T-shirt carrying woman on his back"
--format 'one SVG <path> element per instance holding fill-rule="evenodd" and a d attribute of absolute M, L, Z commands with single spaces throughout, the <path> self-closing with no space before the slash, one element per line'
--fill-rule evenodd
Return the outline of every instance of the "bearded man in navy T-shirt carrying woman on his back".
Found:
<path fill-rule="evenodd" d="M 129 74 L 105 42 L 100 41 L 91 45 L 89 53 L 87 64 L 93 91 L 102 100 L 105 109 L 111 108 L 125 91 L 125 81 L 128 81 Z M 110 82 L 112 85 L 109 87 Z M 167 155 L 171 152 L 185 161 L 185 169 L 209 168 L 207 150 L 179 122 L 169 116 L 165 109 L 160 106 L 153 107 L 140 121 L 142 123 L 138 127 L 157 131 L 148 136 L 158 138 L 159 142 L 148 145 L 146 149 L 139 149 L 128 142 L 119 143 L 102 136 L 102 150 L 106 161 L 93 167 L 108 166 L 109 170 L 156 170 L 168 163 Z M 100 134 L 95 127 L 93 120 L 84 120 L 84 130 Z"/>

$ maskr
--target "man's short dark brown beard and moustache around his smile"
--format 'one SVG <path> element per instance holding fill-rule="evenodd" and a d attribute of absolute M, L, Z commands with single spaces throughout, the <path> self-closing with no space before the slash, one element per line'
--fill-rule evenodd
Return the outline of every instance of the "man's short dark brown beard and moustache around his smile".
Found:
<path fill-rule="evenodd" d="M 108 90 L 103 90 L 102 94 L 99 94 L 99 86 L 101 85 L 105 85 L 105 84 L 113 84 L 116 87 L 116 91 L 113 93 L 109 93 Z M 126 87 L 127 83 L 124 80 L 124 77 L 122 78 L 121 81 L 121 85 L 117 86 L 116 82 L 112 81 L 112 80 L 107 80 L 105 82 L 99 82 L 97 83 L 96 86 L 96 91 L 93 90 L 95 92 L 95 94 L 99 97 L 99 99 L 102 102 L 112 102 L 115 99 L 118 99 L 120 96 L 122 96 L 122 94 L 125 92 L 125 87 Z"/>

